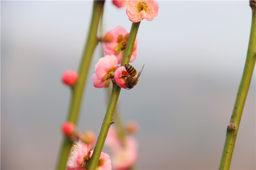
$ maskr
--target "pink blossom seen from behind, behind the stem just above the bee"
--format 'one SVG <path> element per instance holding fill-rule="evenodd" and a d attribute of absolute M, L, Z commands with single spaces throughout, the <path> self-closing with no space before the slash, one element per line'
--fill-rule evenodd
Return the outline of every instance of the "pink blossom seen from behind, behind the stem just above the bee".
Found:
<path fill-rule="evenodd" d="M 116 26 L 116 28 L 110 30 L 108 33 L 109 39 L 112 39 L 111 42 L 104 42 L 103 44 L 103 51 L 104 55 L 116 55 L 118 64 L 122 63 L 123 56 L 124 56 L 124 49 L 126 47 L 129 33 L 128 31 L 122 26 Z M 137 44 L 138 39 L 136 37 L 134 42 L 134 47 L 131 55 L 130 62 L 135 60 L 137 56 Z"/>

